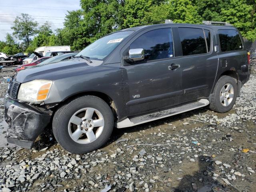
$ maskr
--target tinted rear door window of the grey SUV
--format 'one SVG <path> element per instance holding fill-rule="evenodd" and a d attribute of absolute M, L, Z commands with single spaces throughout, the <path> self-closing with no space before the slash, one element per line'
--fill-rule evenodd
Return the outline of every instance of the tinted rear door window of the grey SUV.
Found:
<path fill-rule="evenodd" d="M 202 29 L 178 28 L 178 31 L 184 56 L 207 53 Z"/>

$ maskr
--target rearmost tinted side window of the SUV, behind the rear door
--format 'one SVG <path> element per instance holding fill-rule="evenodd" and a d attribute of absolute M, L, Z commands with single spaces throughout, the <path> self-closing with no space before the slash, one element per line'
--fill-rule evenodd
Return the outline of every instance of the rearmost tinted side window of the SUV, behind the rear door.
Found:
<path fill-rule="evenodd" d="M 243 48 L 241 38 L 236 30 L 218 30 L 220 50 L 222 52 L 240 50 Z"/>

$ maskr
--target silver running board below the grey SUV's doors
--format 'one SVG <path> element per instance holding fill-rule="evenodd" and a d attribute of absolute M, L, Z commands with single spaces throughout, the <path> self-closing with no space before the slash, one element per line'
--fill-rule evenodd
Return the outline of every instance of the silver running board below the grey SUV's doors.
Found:
<path fill-rule="evenodd" d="M 180 114 L 180 113 L 183 113 L 183 112 L 187 112 L 187 111 L 190 111 L 190 110 L 194 110 L 194 109 L 197 109 L 197 108 L 200 108 L 200 107 L 204 107 L 204 106 L 208 105 L 209 103 L 210 102 L 207 99 L 200 99 L 197 102 L 184 104 L 182 106 L 174 107 L 174 108 L 171 108 L 171 109 L 146 114 L 146 115 L 143 115 L 143 116 L 136 116 L 136 117 L 132 117 L 130 119 L 125 118 L 124 120 L 122 120 L 120 122 L 115 122 L 115 127 L 116 128 L 132 127 L 132 126 L 139 125 L 139 124 L 142 124 L 142 123 L 162 119 L 162 118 L 165 118 L 165 117 L 173 116 L 173 115 Z"/>

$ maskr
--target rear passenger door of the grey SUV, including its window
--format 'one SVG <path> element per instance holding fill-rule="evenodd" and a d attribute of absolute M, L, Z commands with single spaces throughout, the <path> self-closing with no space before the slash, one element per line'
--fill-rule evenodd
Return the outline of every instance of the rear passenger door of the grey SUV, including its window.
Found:
<path fill-rule="evenodd" d="M 182 47 L 181 87 L 184 90 L 181 102 L 208 98 L 218 70 L 218 57 L 213 50 L 216 44 L 214 31 L 198 26 L 181 26 L 178 33 Z"/>

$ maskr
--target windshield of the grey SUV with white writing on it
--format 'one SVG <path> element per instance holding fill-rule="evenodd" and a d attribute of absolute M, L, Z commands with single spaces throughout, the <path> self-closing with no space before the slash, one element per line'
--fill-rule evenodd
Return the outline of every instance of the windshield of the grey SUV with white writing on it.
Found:
<path fill-rule="evenodd" d="M 116 46 L 120 44 L 124 38 L 132 34 L 133 31 L 122 31 L 104 36 L 92 44 L 88 45 L 84 50 L 79 52 L 76 56 L 86 56 L 91 59 L 104 59 Z"/>

